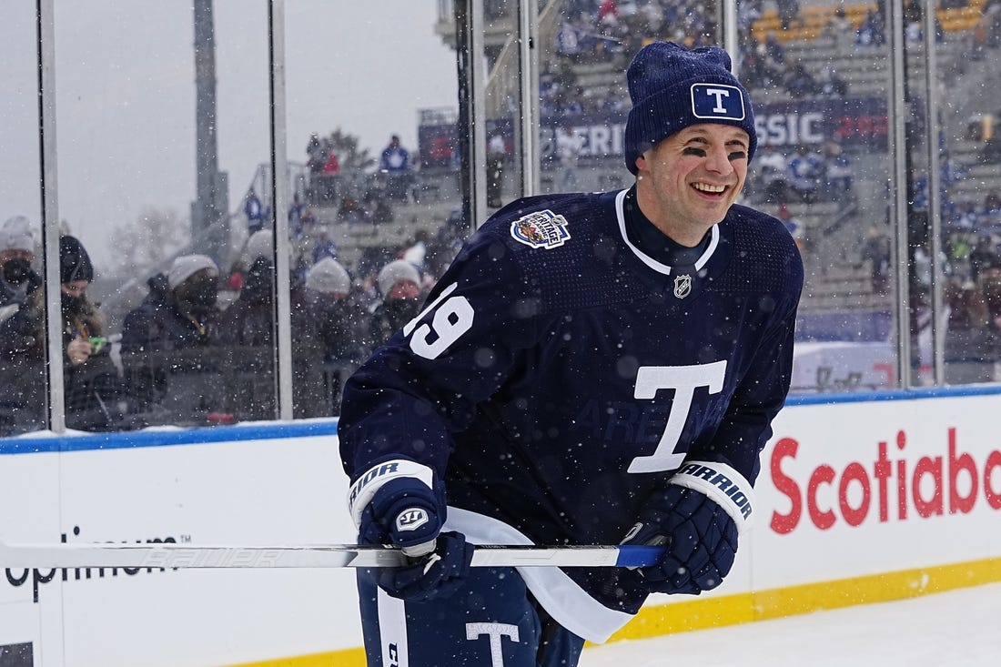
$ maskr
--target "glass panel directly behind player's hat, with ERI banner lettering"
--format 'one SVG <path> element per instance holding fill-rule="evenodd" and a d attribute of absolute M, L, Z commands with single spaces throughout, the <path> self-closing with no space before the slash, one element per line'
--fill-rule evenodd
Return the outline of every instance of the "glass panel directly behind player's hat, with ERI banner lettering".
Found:
<path fill-rule="evenodd" d="M 668 6 L 668 5 L 671 6 Z M 717 2 L 540 3 L 543 192 L 628 187 L 626 69 L 646 43 L 719 44 Z"/>

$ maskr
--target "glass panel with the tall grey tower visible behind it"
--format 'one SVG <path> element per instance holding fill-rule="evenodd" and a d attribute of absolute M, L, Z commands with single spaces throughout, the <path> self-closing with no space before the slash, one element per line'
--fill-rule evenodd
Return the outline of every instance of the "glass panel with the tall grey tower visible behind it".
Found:
<path fill-rule="evenodd" d="M 93 267 L 63 301 L 64 344 L 90 343 L 67 362 L 67 426 L 273 418 L 270 269 L 257 290 L 229 279 L 250 245 L 244 194 L 267 208 L 266 3 L 55 11 L 59 211 Z"/>

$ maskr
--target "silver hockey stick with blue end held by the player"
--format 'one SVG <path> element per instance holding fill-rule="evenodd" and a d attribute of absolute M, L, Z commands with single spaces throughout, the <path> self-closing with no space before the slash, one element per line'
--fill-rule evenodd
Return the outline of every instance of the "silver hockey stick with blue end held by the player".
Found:
<path fill-rule="evenodd" d="M 643 567 L 664 547 L 476 546 L 474 567 Z M 379 568 L 406 565 L 389 547 L 211 547 L 179 544 L 6 544 L 0 568 Z"/>

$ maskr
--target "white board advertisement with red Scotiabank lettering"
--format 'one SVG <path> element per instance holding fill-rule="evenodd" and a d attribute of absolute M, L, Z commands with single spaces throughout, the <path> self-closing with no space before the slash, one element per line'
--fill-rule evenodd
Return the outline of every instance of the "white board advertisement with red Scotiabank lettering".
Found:
<path fill-rule="evenodd" d="M 996 395 L 785 410 L 762 454 L 756 589 L 998 558 Z"/>

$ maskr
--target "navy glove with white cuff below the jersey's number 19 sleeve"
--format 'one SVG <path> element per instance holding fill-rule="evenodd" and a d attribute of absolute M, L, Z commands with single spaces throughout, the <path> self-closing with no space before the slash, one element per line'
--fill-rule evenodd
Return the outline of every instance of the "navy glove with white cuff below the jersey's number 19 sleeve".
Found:
<path fill-rule="evenodd" d="M 441 534 L 444 490 L 429 468 L 406 460 L 377 464 L 351 485 L 348 505 L 361 544 L 399 547 L 412 563 L 377 572 L 386 593 L 420 601 L 447 597 L 461 585 L 472 545 L 460 533 Z"/>

